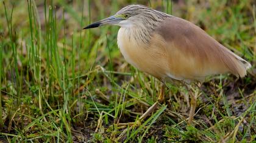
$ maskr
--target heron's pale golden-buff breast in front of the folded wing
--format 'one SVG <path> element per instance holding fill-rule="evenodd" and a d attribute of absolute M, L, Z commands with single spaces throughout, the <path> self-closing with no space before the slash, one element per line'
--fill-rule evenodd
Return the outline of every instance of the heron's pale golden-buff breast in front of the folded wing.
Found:
<path fill-rule="evenodd" d="M 149 43 L 143 42 L 143 40 L 138 39 L 138 36 L 135 36 L 136 33 L 138 32 L 133 32 L 129 28 L 120 28 L 118 31 L 118 47 L 124 59 L 139 70 L 158 79 L 165 78 L 168 68 L 165 50 L 159 44 L 155 46 L 151 41 Z"/>

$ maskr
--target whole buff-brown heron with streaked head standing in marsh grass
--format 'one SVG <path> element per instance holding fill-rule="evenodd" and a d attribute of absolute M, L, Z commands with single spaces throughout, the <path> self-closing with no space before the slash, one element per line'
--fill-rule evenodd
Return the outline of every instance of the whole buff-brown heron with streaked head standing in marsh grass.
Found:
<path fill-rule="evenodd" d="M 188 124 L 191 124 L 197 99 L 191 92 L 191 84 L 224 73 L 243 78 L 251 68 L 249 62 L 192 22 L 145 5 L 127 5 L 115 15 L 84 29 L 102 25 L 118 25 L 117 44 L 124 59 L 161 83 L 157 101 L 140 117 L 140 121 L 163 102 L 166 82 L 179 81 L 188 87 L 191 98 Z"/>

